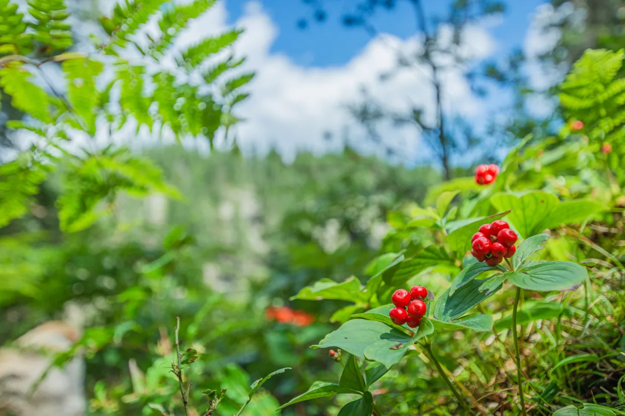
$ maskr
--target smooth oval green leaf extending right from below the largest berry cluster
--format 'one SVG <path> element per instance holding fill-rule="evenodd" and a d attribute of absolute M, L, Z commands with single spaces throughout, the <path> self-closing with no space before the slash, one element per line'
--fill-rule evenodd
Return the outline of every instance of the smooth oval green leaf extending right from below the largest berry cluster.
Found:
<path fill-rule="evenodd" d="M 586 268 L 570 261 L 546 261 L 509 273 L 508 280 L 519 288 L 532 291 L 558 291 L 581 284 L 588 273 Z"/>

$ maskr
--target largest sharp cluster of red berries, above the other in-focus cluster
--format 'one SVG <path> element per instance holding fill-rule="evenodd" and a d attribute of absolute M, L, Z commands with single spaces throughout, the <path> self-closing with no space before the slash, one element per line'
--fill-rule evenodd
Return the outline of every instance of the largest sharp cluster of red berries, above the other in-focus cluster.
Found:
<path fill-rule="evenodd" d="M 491 267 L 497 266 L 505 257 L 507 259 L 516 253 L 516 240 L 519 237 L 510 230 L 506 221 L 496 220 L 491 224 L 484 224 L 471 238 L 473 249 L 471 254 L 477 261 L 486 261 Z"/>

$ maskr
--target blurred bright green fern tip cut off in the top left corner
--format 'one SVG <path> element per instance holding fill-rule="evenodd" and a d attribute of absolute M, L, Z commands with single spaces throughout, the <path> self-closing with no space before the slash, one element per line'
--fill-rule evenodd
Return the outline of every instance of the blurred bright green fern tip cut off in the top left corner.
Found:
<path fill-rule="evenodd" d="M 24 14 L 17 8 L 17 4 L 9 0 L 0 0 L 0 56 L 25 55 L 32 51 Z"/>

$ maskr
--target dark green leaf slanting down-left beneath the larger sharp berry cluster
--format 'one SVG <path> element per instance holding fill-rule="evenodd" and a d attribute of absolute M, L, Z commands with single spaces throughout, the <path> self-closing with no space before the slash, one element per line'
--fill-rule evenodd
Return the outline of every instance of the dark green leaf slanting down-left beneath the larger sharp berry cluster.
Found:
<path fill-rule="evenodd" d="M 447 289 L 436 302 L 434 317 L 439 319 L 439 321 L 447 322 L 461 317 L 470 311 L 472 307 L 485 301 L 501 289 L 501 283 L 495 288 L 482 288 L 483 284 L 487 284 L 497 278 L 498 276 L 492 276 L 487 279 L 472 279 L 469 283 L 457 288 L 452 295 L 449 294 L 449 289 Z"/>

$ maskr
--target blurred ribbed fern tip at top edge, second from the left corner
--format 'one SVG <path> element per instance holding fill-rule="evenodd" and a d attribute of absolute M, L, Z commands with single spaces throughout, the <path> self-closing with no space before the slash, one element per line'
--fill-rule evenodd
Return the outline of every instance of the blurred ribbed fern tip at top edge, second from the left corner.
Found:
<path fill-rule="evenodd" d="M 29 14 L 35 22 L 33 39 L 41 42 L 45 52 L 63 51 L 72 46 L 71 26 L 66 22 L 69 12 L 64 0 L 29 0 Z"/>

